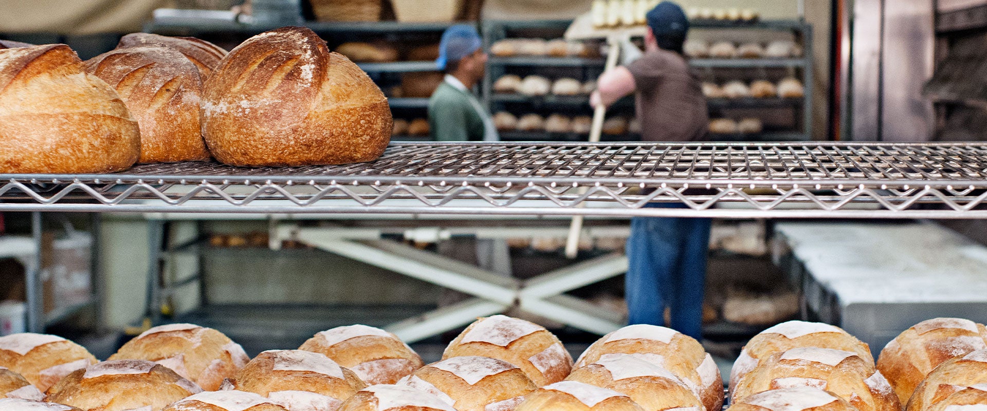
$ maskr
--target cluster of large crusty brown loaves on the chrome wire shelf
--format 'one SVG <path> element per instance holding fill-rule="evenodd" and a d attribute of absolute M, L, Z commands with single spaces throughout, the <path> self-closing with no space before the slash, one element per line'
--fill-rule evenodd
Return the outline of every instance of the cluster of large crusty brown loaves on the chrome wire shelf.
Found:
<path fill-rule="evenodd" d="M 365 162 L 383 153 L 391 126 L 366 73 L 305 28 L 229 53 L 157 34 L 125 35 L 86 62 L 64 44 L 0 49 L 0 172 L 210 155 L 234 166 Z"/>

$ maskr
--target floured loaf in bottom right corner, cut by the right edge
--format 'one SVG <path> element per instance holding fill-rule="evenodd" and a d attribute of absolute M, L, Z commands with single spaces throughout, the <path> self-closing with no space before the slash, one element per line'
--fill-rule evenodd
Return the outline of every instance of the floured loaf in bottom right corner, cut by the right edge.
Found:
<path fill-rule="evenodd" d="M 929 373 L 908 400 L 908 411 L 929 407 L 964 387 L 987 383 L 987 350 L 973 351 L 940 364 Z"/>

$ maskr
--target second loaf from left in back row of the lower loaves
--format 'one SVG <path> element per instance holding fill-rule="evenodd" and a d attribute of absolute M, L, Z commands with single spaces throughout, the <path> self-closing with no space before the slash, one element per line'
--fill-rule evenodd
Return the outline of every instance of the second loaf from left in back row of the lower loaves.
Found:
<path fill-rule="evenodd" d="M 219 389 L 250 357 L 222 332 L 194 324 L 159 325 L 127 341 L 110 360 L 147 360 L 168 367 L 206 391 Z"/>

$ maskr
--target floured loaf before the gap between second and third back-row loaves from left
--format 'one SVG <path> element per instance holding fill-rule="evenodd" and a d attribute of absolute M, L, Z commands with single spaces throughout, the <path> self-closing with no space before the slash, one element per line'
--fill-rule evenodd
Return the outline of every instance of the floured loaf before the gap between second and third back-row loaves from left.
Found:
<path fill-rule="evenodd" d="M 233 386 L 264 395 L 290 411 L 324 411 L 339 408 L 367 385 L 322 354 L 271 350 L 240 370 Z"/>

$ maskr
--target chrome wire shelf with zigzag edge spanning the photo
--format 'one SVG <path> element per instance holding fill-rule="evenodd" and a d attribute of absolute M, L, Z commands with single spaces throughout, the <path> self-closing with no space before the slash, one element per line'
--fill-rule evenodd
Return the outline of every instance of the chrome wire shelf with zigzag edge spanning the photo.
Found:
<path fill-rule="evenodd" d="M 345 166 L 0 174 L 0 201 L 0 211 L 985 218 L 987 145 L 394 143 Z"/>

